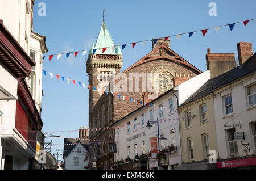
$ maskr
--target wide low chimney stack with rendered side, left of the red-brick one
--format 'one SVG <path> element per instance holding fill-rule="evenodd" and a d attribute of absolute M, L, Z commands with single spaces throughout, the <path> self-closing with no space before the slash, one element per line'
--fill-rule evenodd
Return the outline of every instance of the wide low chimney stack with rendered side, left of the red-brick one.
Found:
<path fill-rule="evenodd" d="M 210 70 L 210 78 L 236 68 L 234 53 L 211 53 L 210 48 L 208 48 L 205 57 L 207 70 Z"/>

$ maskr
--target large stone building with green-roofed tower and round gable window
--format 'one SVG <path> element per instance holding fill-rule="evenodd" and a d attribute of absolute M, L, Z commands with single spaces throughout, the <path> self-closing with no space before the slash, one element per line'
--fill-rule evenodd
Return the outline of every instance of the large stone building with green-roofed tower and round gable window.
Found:
<path fill-rule="evenodd" d="M 160 94 L 172 89 L 172 87 L 201 73 L 199 69 L 171 50 L 170 39 L 158 39 L 156 44 L 152 39 L 152 51 L 122 71 L 125 75 L 119 74 L 115 77 L 121 72 L 123 60 L 120 47 L 117 46 L 112 49 L 112 46 L 114 46 L 113 40 L 103 22 L 96 44 L 92 45 L 86 62 L 89 85 L 91 85 L 89 90 L 89 137 L 100 140 L 98 143 L 99 158 L 101 158 L 101 155 L 109 155 L 108 145 L 109 142 L 113 142 L 114 136 L 114 128 L 111 127 L 116 121 L 141 107 L 141 101 L 148 103 Z M 104 51 L 102 49 L 104 47 L 110 48 Z M 134 73 L 135 76 L 129 77 L 130 73 Z M 147 78 L 146 82 L 142 81 L 143 76 L 148 75 L 148 73 L 159 73 L 158 94 L 148 91 L 148 89 L 154 88 L 154 85 L 152 85 L 153 87 L 147 87 L 146 90 L 143 90 L 144 87 L 142 89 L 142 83 L 148 84 Z M 123 80 L 123 76 L 127 79 Z M 134 80 L 133 83 L 131 84 L 128 79 Z M 115 80 L 114 83 L 113 80 Z M 127 86 L 120 83 L 122 81 L 127 82 Z M 117 92 L 116 95 L 110 94 L 111 91 L 116 92 L 110 85 L 121 89 L 122 92 Z M 130 86 L 133 86 L 133 89 Z M 135 86 L 140 87 L 138 92 L 135 91 Z M 129 88 L 133 91 L 129 91 Z M 105 90 L 104 94 L 102 94 L 102 89 Z M 106 91 L 109 93 L 106 94 Z M 121 95 L 120 99 L 117 96 L 118 94 Z M 130 101 L 130 98 L 133 99 Z M 90 153 L 95 153 L 96 149 L 96 146 L 91 146 Z M 108 158 L 104 163 L 98 163 L 102 169 L 112 169 L 113 157 L 110 155 Z M 93 158 L 91 157 L 90 160 L 92 162 Z"/>

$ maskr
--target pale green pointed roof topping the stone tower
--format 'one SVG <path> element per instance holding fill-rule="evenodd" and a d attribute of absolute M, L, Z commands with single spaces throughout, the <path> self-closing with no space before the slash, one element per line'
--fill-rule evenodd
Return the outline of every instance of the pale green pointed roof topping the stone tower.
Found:
<path fill-rule="evenodd" d="M 102 22 L 100 33 L 98 33 L 97 41 L 95 46 L 92 47 L 92 49 L 97 49 L 96 54 L 122 54 L 121 49 L 119 46 L 115 49 L 115 51 L 112 51 L 112 47 L 114 46 L 114 41 L 112 37 L 110 36 L 109 30 L 106 27 L 105 22 Z M 107 48 L 104 53 L 102 53 L 102 48 Z M 119 49 L 118 49 L 119 48 Z M 93 53 L 92 50 L 90 50 L 89 54 Z"/>

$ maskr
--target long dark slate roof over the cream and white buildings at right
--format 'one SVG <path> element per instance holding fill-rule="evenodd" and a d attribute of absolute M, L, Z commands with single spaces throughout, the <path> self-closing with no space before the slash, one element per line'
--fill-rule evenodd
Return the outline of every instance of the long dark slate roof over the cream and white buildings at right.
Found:
<path fill-rule="evenodd" d="M 256 71 L 256 53 L 253 54 L 242 66 L 238 66 L 230 71 L 227 71 L 224 74 L 219 75 L 218 77 L 214 77 L 207 81 L 203 86 L 200 87 L 190 98 L 188 98 L 183 104 L 179 107 L 184 106 L 187 103 L 190 103 L 199 98 L 203 98 L 204 96 L 210 94 L 214 90 L 228 85 L 233 81 L 237 81 L 238 79 L 245 77 L 246 75 L 250 75 L 255 73 Z"/>

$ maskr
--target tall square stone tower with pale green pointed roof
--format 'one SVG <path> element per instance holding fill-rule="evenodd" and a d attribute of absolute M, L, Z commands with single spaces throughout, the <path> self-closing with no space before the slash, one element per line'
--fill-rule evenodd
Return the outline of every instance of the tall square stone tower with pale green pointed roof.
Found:
<path fill-rule="evenodd" d="M 123 65 L 123 56 L 119 46 L 114 42 L 103 20 L 97 41 L 89 51 L 86 61 L 86 72 L 89 75 L 89 127 L 92 128 L 91 111 L 97 103 L 102 92 L 98 89 L 108 90 L 110 78 L 120 72 Z M 105 49 L 106 48 L 106 49 Z M 96 90 L 93 89 L 95 87 Z"/>

